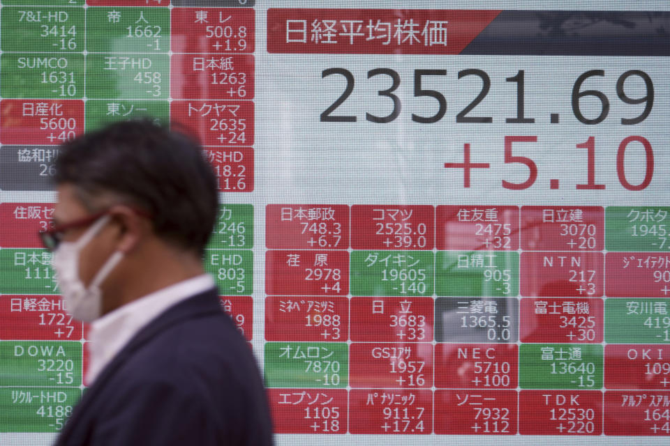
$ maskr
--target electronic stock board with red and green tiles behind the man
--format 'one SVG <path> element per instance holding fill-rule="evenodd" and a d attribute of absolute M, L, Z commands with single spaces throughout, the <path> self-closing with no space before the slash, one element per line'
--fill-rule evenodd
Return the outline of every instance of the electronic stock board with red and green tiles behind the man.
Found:
<path fill-rule="evenodd" d="M 667 2 L 0 3 L 1 444 L 87 385 L 58 145 L 142 116 L 216 170 L 278 444 L 667 444 Z"/>

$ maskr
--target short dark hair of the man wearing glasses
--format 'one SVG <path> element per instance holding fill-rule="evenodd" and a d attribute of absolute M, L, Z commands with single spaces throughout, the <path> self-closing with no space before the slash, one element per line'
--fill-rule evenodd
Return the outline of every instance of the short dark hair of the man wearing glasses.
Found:
<path fill-rule="evenodd" d="M 124 204 L 151 216 L 156 236 L 198 255 L 216 218 L 216 178 L 200 146 L 151 121 L 115 123 L 63 146 L 58 186 L 96 213 Z"/>

